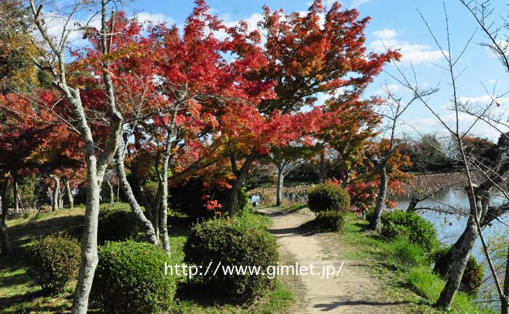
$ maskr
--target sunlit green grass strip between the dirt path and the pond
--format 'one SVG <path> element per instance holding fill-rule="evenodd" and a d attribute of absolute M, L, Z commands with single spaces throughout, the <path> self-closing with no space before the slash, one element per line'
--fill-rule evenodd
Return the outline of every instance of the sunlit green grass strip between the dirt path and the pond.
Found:
<path fill-rule="evenodd" d="M 347 248 L 347 259 L 368 260 L 372 274 L 388 287 L 388 294 L 395 301 L 406 304 L 408 313 L 443 313 L 432 307 L 445 282 L 432 273 L 425 253 L 404 241 L 382 241 L 372 232 L 365 231 L 367 221 L 351 215 L 347 218 L 339 239 Z M 448 313 L 493 313 L 478 308 L 463 292 L 456 294 Z"/>

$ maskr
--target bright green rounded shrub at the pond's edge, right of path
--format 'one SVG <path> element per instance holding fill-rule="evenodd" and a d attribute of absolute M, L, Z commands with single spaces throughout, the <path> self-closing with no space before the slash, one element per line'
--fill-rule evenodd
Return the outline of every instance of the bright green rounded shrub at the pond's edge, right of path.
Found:
<path fill-rule="evenodd" d="M 414 212 L 387 211 L 382 214 L 381 223 L 381 235 L 385 239 L 393 240 L 407 234 L 411 243 L 422 246 L 428 253 L 438 247 L 433 224 Z"/>

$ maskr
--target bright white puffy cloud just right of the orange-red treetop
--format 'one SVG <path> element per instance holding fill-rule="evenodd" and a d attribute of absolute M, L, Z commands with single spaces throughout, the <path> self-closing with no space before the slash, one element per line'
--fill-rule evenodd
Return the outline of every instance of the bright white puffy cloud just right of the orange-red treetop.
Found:
<path fill-rule="evenodd" d="M 428 45 L 411 44 L 397 39 L 397 31 L 394 29 L 381 29 L 374 31 L 376 37 L 370 43 L 370 47 L 375 52 L 383 52 L 388 48 L 399 49 L 402 54 L 400 63 L 404 65 L 432 63 L 439 61 L 443 54 L 441 50 L 433 50 Z"/>

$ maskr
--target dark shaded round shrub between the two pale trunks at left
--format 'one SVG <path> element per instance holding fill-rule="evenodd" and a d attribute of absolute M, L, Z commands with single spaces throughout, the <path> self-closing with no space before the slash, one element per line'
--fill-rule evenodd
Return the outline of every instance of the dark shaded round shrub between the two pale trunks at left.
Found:
<path fill-rule="evenodd" d="M 137 237 L 141 227 L 126 204 L 104 205 L 99 211 L 98 242 L 126 241 Z"/>

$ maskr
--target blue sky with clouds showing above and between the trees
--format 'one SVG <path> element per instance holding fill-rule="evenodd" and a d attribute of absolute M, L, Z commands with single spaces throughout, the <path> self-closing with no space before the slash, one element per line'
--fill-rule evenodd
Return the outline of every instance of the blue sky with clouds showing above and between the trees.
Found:
<path fill-rule="evenodd" d="M 331 6 L 333 1 L 324 0 L 326 6 Z M 439 0 L 427 1 L 404 1 L 404 0 L 345 0 L 340 1 L 344 7 L 356 7 L 361 16 L 370 16 L 372 20 L 366 29 L 367 46 L 370 50 L 378 51 L 383 45 L 400 47 L 403 54 L 403 60 L 400 67 L 405 73 L 411 75 L 409 66 L 412 62 L 418 81 L 423 86 L 435 86 L 439 84 L 441 91 L 432 96 L 430 103 L 444 119 L 450 119 L 450 114 L 446 107 L 450 100 L 451 90 L 449 85 L 448 73 L 433 65 L 438 63 L 444 65 L 443 57 L 439 47 L 436 46 L 430 32 L 427 31 L 425 23 L 421 20 L 418 10 L 430 24 L 440 41 L 443 48 L 446 48 L 446 27 L 443 13 L 443 3 Z M 504 15 L 506 10 L 506 1 L 493 1 L 497 6 L 497 13 Z M 261 17 L 261 7 L 267 4 L 269 8 L 275 10 L 283 8 L 287 12 L 305 11 L 310 5 L 309 0 L 209 0 L 213 12 L 225 22 L 234 23 L 238 20 L 247 20 L 252 27 L 255 27 L 257 20 Z M 185 17 L 192 10 L 193 2 L 190 0 L 139 0 L 130 4 L 131 9 L 142 10 L 139 13 L 140 19 L 164 20 L 169 23 L 182 25 Z M 446 8 L 450 20 L 450 34 L 452 54 L 458 55 L 462 51 L 466 40 L 470 38 L 476 29 L 475 21 L 466 9 L 459 3 L 459 0 L 446 0 Z M 496 16 L 495 16 L 496 17 Z M 492 89 L 497 80 L 498 94 L 503 94 L 509 89 L 509 74 L 503 70 L 498 59 L 478 43 L 482 42 L 483 34 L 480 31 L 474 36 L 473 43 L 469 46 L 462 59 L 459 60 L 458 73 L 465 70 L 458 80 L 459 96 L 464 99 L 469 98 L 472 101 L 483 103 L 486 100 L 485 92 L 481 82 L 488 89 Z M 392 66 L 387 66 L 388 73 L 397 74 Z M 390 87 L 403 98 L 409 96 L 407 90 L 398 86 L 387 73 L 383 73 L 367 90 L 366 96 L 381 94 L 381 85 L 390 84 Z M 509 106 L 509 98 L 503 98 L 501 101 L 501 110 Z M 432 114 L 420 103 L 415 103 L 404 115 L 403 124 L 400 127 L 400 133 L 414 133 L 409 124 L 422 133 L 443 133 L 444 130 Z M 452 120 L 451 120 L 452 121 Z M 466 129 L 471 121 L 469 117 L 463 117 L 462 128 Z M 496 137 L 496 132 L 491 128 L 479 125 L 473 129 L 473 133 L 482 136 Z"/>

